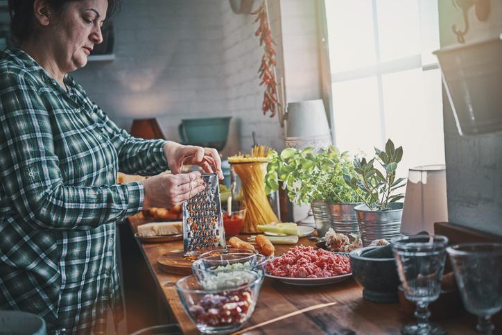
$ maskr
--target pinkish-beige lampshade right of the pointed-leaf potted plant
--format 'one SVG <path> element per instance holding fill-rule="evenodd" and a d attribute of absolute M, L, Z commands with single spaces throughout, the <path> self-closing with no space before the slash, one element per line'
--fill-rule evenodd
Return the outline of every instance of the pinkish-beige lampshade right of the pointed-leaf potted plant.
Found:
<path fill-rule="evenodd" d="M 434 233 L 434 223 L 448 221 L 447 178 L 444 165 L 410 169 L 406 184 L 401 232 Z"/>

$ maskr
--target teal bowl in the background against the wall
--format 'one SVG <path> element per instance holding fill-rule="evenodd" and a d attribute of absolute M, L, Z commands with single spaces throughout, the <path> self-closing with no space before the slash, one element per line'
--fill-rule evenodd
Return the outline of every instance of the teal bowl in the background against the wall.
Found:
<path fill-rule="evenodd" d="M 218 151 L 227 144 L 228 128 L 232 117 L 206 117 L 182 119 L 178 133 L 182 144 L 207 146 Z"/>

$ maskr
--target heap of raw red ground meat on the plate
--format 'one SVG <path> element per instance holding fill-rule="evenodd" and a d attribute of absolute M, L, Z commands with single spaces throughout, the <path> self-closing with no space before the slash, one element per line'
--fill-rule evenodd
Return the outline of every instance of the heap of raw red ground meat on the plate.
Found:
<path fill-rule="evenodd" d="M 350 271 L 349 257 L 311 246 L 295 246 L 267 263 L 267 273 L 278 277 L 333 277 Z"/>

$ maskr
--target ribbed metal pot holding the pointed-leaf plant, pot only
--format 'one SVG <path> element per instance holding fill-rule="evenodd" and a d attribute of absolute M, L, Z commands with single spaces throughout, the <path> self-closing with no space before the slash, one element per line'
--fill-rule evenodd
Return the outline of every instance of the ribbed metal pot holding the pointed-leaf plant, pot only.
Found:
<path fill-rule="evenodd" d="M 363 246 L 369 246 L 376 239 L 390 241 L 393 237 L 401 236 L 402 203 L 392 204 L 391 209 L 387 211 L 371 211 L 366 205 L 358 205 L 354 210 Z"/>

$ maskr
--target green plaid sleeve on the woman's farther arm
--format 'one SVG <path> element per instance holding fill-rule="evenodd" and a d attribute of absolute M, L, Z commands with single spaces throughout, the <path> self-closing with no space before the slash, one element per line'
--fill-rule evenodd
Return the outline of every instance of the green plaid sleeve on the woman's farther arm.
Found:
<path fill-rule="evenodd" d="M 120 129 L 107 114 L 94 104 L 97 115 L 119 155 L 119 170 L 123 173 L 157 175 L 168 169 L 164 155 L 164 139 L 138 139 Z"/>

